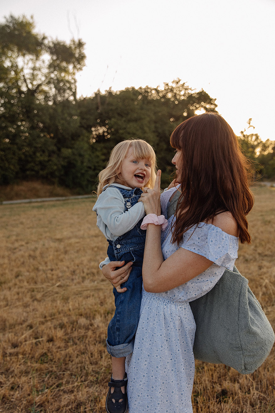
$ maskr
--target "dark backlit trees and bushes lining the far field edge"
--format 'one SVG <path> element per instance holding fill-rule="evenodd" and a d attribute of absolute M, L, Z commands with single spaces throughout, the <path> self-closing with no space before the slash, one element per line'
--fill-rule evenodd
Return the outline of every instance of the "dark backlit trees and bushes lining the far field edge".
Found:
<path fill-rule="evenodd" d="M 215 99 L 180 79 L 78 99 L 82 40 L 52 40 L 35 33 L 32 19 L 12 15 L 0 25 L 0 39 L 0 185 L 42 179 L 89 193 L 112 148 L 139 138 L 155 148 L 165 188 L 174 171 L 173 129 L 194 114 L 216 112 Z M 255 177 L 275 178 L 275 142 L 245 130 L 239 140 Z"/>

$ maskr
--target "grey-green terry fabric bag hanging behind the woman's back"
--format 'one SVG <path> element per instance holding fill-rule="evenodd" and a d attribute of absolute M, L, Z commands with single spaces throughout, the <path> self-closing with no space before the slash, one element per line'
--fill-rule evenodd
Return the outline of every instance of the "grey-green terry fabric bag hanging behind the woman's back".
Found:
<path fill-rule="evenodd" d="M 168 218 L 174 215 L 179 195 L 177 191 L 168 205 Z M 253 373 L 266 360 L 274 332 L 248 280 L 235 266 L 224 271 L 212 290 L 189 304 L 196 323 L 197 360 L 226 364 L 242 374 Z"/>

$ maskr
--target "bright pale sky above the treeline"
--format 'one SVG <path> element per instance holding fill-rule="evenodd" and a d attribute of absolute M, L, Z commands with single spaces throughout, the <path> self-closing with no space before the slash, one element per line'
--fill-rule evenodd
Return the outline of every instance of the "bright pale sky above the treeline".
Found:
<path fill-rule="evenodd" d="M 180 78 L 216 98 L 238 135 L 275 140 L 275 0 L 0 0 L 0 21 L 86 43 L 78 96 Z M 146 138 L 146 137 L 145 137 Z"/>

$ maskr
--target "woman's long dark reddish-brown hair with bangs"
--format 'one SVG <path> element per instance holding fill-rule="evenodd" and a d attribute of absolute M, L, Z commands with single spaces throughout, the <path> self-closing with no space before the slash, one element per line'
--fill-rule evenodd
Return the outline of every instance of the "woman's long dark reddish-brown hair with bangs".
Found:
<path fill-rule="evenodd" d="M 173 242 L 179 244 L 193 225 L 211 222 L 217 214 L 230 211 L 237 221 L 240 242 L 250 243 L 246 219 L 254 203 L 249 189 L 250 164 L 228 123 L 214 112 L 193 116 L 176 127 L 170 143 L 182 154 L 177 176 L 182 194 Z"/>

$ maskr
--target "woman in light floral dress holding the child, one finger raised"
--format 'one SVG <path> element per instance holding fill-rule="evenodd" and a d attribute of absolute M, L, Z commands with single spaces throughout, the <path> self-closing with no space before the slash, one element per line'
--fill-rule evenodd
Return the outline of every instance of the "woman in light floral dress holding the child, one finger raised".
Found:
<path fill-rule="evenodd" d="M 162 235 L 159 225 L 147 227 L 139 325 L 127 359 L 129 413 L 192 412 L 195 322 L 189 301 L 211 290 L 225 268 L 233 269 L 238 240 L 250 242 L 248 166 L 230 126 L 205 113 L 181 123 L 170 142 L 181 195 Z M 160 173 L 154 189 L 141 195 L 147 215 L 160 215 L 159 186 Z M 162 194 L 164 215 L 176 190 Z M 113 271 L 115 264 L 103 267 L 113 283 L 123 271 Z"/>

